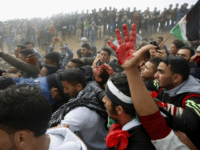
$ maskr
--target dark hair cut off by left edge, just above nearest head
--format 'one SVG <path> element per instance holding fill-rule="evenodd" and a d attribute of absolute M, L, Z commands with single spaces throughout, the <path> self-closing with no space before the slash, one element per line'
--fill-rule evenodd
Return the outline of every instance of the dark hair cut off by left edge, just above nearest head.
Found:
<path fill-rule="evenodd" d="M 0 90 L 4 90 L 12 85 L 16 85 L 15 80 L 11 77 L 0 77 Z"/>

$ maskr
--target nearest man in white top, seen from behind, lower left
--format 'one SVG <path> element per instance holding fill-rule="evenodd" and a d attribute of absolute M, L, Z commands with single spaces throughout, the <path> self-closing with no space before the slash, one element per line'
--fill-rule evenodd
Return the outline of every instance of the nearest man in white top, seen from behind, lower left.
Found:
<path fill-rule="evenodd" d="M 0 114 L 0 149 L 86 150 L 66 128 L 47 131 L 51 106 L 34 86 L 19 84 L 2 91 L 0 108 L 4 112 Z"/>

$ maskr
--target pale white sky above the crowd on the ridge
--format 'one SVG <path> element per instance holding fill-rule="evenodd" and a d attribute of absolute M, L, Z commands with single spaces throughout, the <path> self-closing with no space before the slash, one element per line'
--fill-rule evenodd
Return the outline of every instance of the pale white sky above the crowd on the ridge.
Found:
<path fill-rule="evenodd" d="M 188 8 L 194 5 L 198 0 L 4 0 L 1 2 L 0 21 L 15 19 L 15 18 L 34 18 L 34 17 L 50 17 L 58 13 L 70 13 L 78 11 L 79 13 L 88 9 L 91 12 L 96 8 L 102 10 L 111 6 L 112 8 L 127 9 L 131 11 L 134 7 L 137 10 L 144 11 L 147 7 L 153 11 L 154 7 L 158 10 L 168 8 L 170 4 L 175 6 L 179 3 L 179 8 L 183 3 L 188 3 Z"/>

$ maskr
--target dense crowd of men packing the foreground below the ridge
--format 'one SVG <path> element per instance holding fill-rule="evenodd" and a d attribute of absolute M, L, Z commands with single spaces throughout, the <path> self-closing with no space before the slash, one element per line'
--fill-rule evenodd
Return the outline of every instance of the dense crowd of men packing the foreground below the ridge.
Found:
<path fill-rule="evenodd" d="M 10 64 L 0 69 L 0 149 L 200 149 L 200 39 L 168 49 L 162 36 L 139 40 L 142 28 L 125 22 L 98 52 L 95 20 L 90 44 L 79 21 L 78 58 L 57 28 L 44 57 L 34 38 L 0 51 Z"/>

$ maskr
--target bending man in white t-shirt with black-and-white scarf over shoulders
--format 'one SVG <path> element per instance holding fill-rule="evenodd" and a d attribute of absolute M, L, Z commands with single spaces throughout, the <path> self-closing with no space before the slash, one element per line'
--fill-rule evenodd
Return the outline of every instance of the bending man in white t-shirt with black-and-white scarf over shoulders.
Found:
<path fill-rule="evenodd" d="M 62 71 L 60 80 L 70 100 L 52 115 L 49 126 L 68 127 L 84 141 L 88 150 L 105 150 L 103 91 L 95 84 L 86 85 L 84 74 L 78 68 Z"/>

